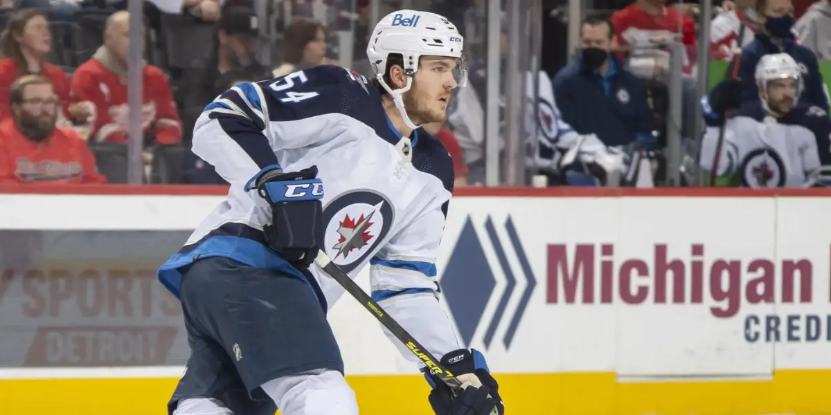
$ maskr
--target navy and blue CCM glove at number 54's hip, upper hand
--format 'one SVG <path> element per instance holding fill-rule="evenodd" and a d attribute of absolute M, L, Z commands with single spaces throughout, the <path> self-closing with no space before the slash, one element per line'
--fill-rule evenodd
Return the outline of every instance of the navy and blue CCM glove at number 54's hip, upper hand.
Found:
<path fill-rule="evenodd" d="M 263 227 L 268 247 L 293 266 L 307 268 L 323 242 L 323 184 L 317 166 L 296 173 L 263 170 L 245 185 L 251 188 L 271 206 L 272 222 Z"/>

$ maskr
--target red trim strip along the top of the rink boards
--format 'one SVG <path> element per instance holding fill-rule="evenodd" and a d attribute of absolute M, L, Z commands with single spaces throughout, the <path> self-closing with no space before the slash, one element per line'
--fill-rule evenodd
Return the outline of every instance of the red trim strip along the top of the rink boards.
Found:
<path fill-rule="evenodd" d="M 228 194 L 228 186 L 187 185 L 0 185 L 0 194 L 75 194 L 75 195 L 147 195 L 147 196 L 221 196 Z M 455 196 L 514 197 L 514 198 L 831 198 L 831 188 L 457 188 Z"/>

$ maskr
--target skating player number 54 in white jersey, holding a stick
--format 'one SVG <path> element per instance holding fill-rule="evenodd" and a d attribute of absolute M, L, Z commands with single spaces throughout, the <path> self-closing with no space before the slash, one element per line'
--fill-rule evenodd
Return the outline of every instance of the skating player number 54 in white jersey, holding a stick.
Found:
<path fill-rule="evenodd" d="M 368 262 L 372 297 L 464 383 L 452 393 L 425 374 L 436 414 L 504 413 L 484 357 L 460 349 L 437 300 L 453 168 L 419 125 L 444 121 L 465 84 L 462 44 L 444 17 L 393 12 L 366 49 L 371 82 L 316 66 L 235 85 L 205 108 L 193 150 L 230 190 L 159 271 L 191 348 L 170 414 L 358 413 L 326 320 L 343 289 L 318 251 L 352 277 Z"/>

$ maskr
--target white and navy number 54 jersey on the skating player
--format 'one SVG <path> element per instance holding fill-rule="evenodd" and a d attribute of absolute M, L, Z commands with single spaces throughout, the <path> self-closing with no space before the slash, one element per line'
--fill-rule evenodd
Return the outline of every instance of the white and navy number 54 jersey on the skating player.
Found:
<path fill-rule="evenodd" d="M 437 299 L 435 269 L 453 189 L 452 161 L 424 129 L 402 137 L 365 77 L 316 66 L 235 85 L 199 116 L 193 150 L 231 186 L 227 200 L 161 266 L 159 279 L 175 295 L 177 270 L 206 256 L 305 280 L 267 247 L 262 229 L 271 208 L 244 187 L 269 166 L 288 172 L 317 165 L 325 187 L 322 249 L 352 278 L 369 264 L 372 298 L 430 352 L 440 356 L 460 348 Z M 316 264 L 308 273 L 322 302 L 333 305 L 342 287 Z"/>

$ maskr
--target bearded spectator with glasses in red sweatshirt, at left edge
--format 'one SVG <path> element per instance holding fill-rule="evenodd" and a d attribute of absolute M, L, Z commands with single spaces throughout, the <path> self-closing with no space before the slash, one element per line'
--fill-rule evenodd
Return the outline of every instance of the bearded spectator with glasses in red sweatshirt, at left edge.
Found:
<path fill-rule="evenodd" d="M 12 116 L 0 121 L 0 183 L 106 183 L 84 139 L 56 127 L 58 102 L 42 76 L 14 81 Z"/>

